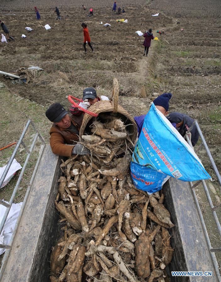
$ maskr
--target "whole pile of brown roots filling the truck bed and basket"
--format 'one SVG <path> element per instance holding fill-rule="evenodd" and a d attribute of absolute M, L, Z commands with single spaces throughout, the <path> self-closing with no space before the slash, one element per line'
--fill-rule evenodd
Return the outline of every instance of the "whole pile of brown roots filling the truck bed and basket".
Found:
<path fill-rule="evenodd" d="M 61 164 L 55 207 L 64 236 L 52 248 L 52 282 L 169 281 L 174 225 L 163 194 L 148 196 L 132 184 L 130 152 L 112 157 L 127 138 L 120 122 L 95 122 L 94 134 L 82 136 L 91 155 Z"/>

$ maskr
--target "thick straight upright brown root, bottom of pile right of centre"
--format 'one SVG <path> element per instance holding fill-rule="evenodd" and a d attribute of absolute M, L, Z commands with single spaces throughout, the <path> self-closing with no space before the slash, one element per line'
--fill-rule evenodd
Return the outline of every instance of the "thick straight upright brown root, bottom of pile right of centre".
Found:
<path fill-rule="evenodd" d="M 143 279 L 150 275 L 150 242 L 146 232 L 143 232 L 135 242 L 135 267 L 137 275 Z"/>

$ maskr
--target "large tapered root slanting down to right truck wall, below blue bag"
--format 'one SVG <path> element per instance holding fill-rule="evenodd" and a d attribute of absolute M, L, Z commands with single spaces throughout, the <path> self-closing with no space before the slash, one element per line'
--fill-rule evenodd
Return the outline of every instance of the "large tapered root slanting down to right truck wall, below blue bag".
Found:
<path fill-rule="evenodd" d="M 153 212 L 157 218 L 161 222 L 168 224 L 170 227 L 174 227 L 174 224 L 170 221 L 170 213 L 164 205 L 159 204 L 154 197 L 150 197 L 150 203 L 153 206 Z"/>

